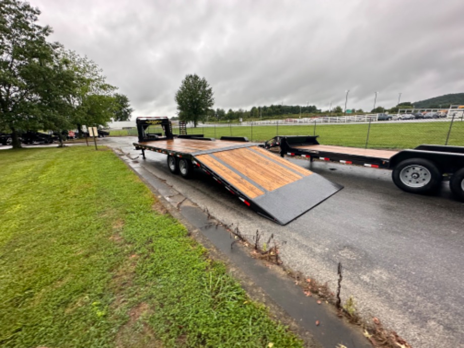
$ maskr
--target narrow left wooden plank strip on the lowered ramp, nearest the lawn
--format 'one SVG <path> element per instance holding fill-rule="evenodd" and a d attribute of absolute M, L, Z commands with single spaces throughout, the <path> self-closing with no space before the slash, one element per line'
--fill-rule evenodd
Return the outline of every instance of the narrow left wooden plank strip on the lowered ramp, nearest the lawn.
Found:
<path fill-rule="evenodd" d="M 195 158 L 250 199 L 264 194 L 264 192 L 259 188 L 240 177 L 240 175 L 230 170 L 225 165 L 212 158 L 210 155 L 199 155 L 195 156 Z"/>

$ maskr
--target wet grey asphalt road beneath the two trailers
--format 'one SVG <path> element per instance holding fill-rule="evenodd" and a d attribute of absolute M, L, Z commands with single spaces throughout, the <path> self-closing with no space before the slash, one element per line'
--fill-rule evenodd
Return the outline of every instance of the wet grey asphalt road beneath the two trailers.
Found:
<path fill-rule="evenodd" d="M 273 234 L 284 264 L 353 296 L 365 320 L 378 317 L 414 347 L 457 347 L 464 342 L 464 204 L 451 198 L 447 182 L 437 196 L 403 192 L 383 169 L 291 159 L 344 189 L 285 226 L 273 223 L 231 196 L 202 171 L 191 180 L 173 176 L 166 156 L 146 151 L 134 137 L 105 138 L 134 165 L 188 197 L 224 225 Z M 165 195 L 171 199 L 169 193 Z M 285 207 L 282 207 L 285 209 Z"/>

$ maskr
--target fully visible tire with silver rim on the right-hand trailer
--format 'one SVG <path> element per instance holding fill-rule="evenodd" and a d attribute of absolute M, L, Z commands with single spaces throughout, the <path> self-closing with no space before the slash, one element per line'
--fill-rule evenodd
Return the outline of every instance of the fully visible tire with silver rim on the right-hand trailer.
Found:
<path fill-rule="evenodd" d="M 431 193 L 438 189 L 442 173 L 428 159 L 410 158 L 393 169 L 393 183 L 401 190 L 411 193 Z"/>

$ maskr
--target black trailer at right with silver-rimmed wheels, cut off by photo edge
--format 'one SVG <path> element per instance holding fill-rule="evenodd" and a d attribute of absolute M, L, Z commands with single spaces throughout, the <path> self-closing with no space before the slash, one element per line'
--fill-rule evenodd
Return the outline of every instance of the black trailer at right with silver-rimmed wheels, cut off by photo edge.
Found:
<path fill-rule="evenodd" d="M 321 145 L 318 136 L 276 136 L 264 144 L 266 149 L 278 148 L 280 155 L 299 156 L 344 164 L 392 170 L 395 185 L 407 192 L 436 191 L 443 176 L 450 177 L 454 196 L 464 201 L 464 147 L 420 145 L 401 151 L 362 149 Z"/>

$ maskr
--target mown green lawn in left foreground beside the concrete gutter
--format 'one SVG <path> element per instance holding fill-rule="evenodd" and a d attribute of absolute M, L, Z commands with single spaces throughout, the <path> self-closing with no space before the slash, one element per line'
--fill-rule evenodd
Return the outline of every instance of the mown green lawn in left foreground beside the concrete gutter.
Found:
<path fill-rule="evenodd" d="M 0 153 L 0 346 L 270 342 L 302 346 L 111 151 Z"/>

